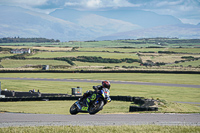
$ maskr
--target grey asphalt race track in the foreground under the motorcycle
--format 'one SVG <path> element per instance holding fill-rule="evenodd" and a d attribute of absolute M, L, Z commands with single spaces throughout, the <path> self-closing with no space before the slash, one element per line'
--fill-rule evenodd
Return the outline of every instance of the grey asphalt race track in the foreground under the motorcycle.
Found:
<path fill-rule="evenodd" d="M 105 126 L 105 125 L 200 126 L 200 114 L 20 114 L 0 113 L 0 128 L 10 126 Z"/>

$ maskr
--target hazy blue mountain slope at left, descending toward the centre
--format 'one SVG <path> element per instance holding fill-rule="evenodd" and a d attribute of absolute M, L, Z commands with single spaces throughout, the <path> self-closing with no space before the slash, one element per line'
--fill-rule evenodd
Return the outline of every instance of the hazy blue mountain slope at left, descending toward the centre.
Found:
<path fill-rule="evenodd" d="M 0 10 L 0 37 L 45 37 L 61 41 L 96 37 L 77 24 L 50 15 L 11 6 L 0 6 Z"/>

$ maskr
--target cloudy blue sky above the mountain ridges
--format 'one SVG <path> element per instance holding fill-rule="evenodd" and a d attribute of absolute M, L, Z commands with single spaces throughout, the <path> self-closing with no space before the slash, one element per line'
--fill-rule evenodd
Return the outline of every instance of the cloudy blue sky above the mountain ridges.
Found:
<path fill-rule="evenodd" d="M 102 10 L 120 7 L 172 15 L 183 23 L 200 23 L 200 0 L 0 0 L 0 5 L 19 6 L 37 12 L 56 9 Z"/>

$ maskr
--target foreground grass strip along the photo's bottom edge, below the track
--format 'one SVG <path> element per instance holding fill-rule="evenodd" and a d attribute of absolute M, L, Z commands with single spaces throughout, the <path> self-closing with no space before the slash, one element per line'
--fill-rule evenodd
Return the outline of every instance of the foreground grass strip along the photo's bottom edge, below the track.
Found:
<path fill-rule="evenodd" d="M 0 128 L 0 133 L 199 133 L 199 126 L 40 126 Z"/>

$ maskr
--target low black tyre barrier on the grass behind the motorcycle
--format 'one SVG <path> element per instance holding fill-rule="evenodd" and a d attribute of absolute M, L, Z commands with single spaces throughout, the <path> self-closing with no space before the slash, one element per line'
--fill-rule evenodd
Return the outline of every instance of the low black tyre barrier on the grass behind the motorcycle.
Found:
<path fill-rule="evenodd" d="M 2 91 L 5 98 L 0 98 L 0 102 L 17 102 L 17 101 L 56 101 L 56 100 L 78 100 L 81 95 L 54 94 L 54 93 L 38 93 L 38 92 L 14 92 Z M 129 112 L 138 111 L 158 111 L 155 105 L 156 100 L 145 99 L 144 97 L 131 96 L 110 96 L 114 101 L 133 102 L 138 106 L 130 106 Z"/>

